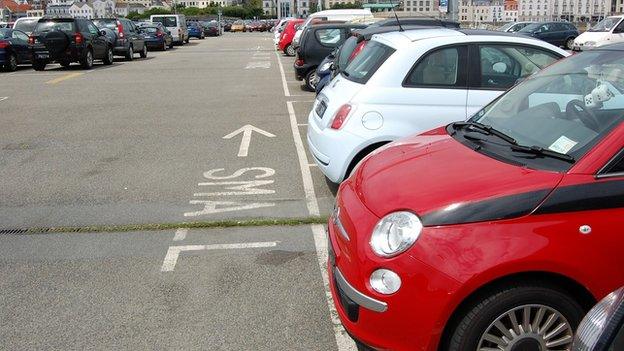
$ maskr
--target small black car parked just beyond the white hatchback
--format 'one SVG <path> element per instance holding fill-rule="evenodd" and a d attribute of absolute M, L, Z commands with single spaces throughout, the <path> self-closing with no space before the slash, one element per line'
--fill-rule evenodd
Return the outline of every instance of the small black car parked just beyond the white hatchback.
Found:
<path fill-rule="evenodd" d="M 353 23 L 330 23 L 312 25 L 301 34 L 295 57 L 295 78 L 305 80 L 306 87 L 314 91 L 319 77 L 316 67 L 334 49 L 342 45 L 351 31 L 365 28 Z"/>

